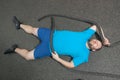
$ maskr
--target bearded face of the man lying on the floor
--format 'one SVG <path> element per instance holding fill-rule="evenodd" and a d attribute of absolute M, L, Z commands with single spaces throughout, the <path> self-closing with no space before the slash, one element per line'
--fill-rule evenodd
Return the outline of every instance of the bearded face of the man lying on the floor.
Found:
<path fill-rule="evenodd" d="M 96 51 L 102 47 L 102 43 L 97 39 L 91 39 L 89 41 L 89 47 L 92 49 L 92 51 Z"/>

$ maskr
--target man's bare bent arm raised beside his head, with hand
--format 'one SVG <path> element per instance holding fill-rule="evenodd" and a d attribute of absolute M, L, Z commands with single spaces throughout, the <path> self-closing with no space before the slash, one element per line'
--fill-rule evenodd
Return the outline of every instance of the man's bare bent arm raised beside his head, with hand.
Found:
<path fill-rule="evenodd" d="M 96 26 L 96 25 L 93 25 L 91 26 L 91 29 L 95 30 L 97 32 L 97 34 L 100 36 L 101 40 L 102 40 L 102 43 L 103 45 L 105 46 L 110 46 L 110 42 L 109 40 L 105 37 L 104 35 L 104 32 L 103 32 L 103 29 L 101 26 Z"/>

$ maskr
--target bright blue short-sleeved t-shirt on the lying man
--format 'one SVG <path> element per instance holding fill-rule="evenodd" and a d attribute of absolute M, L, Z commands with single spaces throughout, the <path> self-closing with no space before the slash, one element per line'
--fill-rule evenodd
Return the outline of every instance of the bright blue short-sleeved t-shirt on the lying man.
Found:
<path fill-rule="evenodd" d="M 53 47 L 59 55 L 67 55 L 73 58 L 74 66 L 88 62 L 89 49 L 86 47 L 87 41 L 95 33 L 88 28 L 82 32 L 55 30 L 53 34 Z"/>

